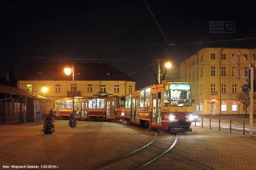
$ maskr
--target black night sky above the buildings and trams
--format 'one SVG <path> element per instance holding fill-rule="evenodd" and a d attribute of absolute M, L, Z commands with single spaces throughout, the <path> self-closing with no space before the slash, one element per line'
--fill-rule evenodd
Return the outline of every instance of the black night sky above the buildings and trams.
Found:
<path fill-rule="evenodd" d="M 179 63 L 203 47 L 256 49 L 256 39 L 195 43 L 256 37 L 255 7 L 244 1 L 0 2 L 1 77 L 11 68 L 19 79 L 22 66 L 45 61 L 42 57 L 102 58 L 135 79 L 136 89 L 153 84 L 157 65 L 152 58 L 162 57 L 169 45 L 147 5 L 168 42 L 176 44 L 163 55 L 173 65 L 167 81 L 179 79 Z M 209 33 L 210 21 L 234 21 L 235 33 Z"/>

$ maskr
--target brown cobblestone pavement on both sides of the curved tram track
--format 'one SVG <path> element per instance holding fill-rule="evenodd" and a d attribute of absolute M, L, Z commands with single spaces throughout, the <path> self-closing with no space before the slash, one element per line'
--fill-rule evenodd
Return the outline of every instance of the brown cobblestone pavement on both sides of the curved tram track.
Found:
<path fill-rule="evenodd" d="M 68 127 L 68 121 L 54 124 L 56 132 L 50 135 L 41 132 L 42 122 L 0 126 L 0 167 L 85 169 L 136 150 L 155 136 L 153 130 L 121 122 L 77 121 L 76 128 Z M 179 133 L 174 148 L 143 169 L 256 169 L 255 138 L 192 128 L 193 132 Z M 127 169 L 125 164 L 115 169 Z"/>

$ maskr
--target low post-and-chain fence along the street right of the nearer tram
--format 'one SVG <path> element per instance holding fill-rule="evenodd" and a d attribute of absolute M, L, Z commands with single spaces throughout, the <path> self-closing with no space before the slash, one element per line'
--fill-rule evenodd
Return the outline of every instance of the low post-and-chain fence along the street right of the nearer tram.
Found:
<path fill-rule="evenodd" d="M 250 120 L 251 121 L 251 120 Z M 207 122 L 209 122 L 209 123 L 207 123 Z M 196 125 L 196 123 L 197 123 L 197 125 Z M 213 124 L 218 124 L 218 127 L 214 127 L 214 126 L 212 126 L 212 123 Z M 223 126 L 221 126 L 221 123 L 222 123 L 222 125 L 223 124 L 227 124 L 229 127 L 228 128 L 224 128 Z M 198 126 L 198 124 L 200 124 L 200 126 L 203 128 L 203 127 L 206 127 L 206 128 L 209 128 L 209 129 L 211 129 L 211 128 L 215 128 L 215 129 L 218 129 L 218 130 L 221 130 L 221 129 L 223 129 L 223 130 L 229 130 L 229 132 L 232 132 L 232 130 L 233 131 L 235 131 L 235 132 L 241 132 L 242 131 L 242 134 L 244 135 L 245 133 L 248 133 L 248 134 L 250 134 L 250 130 L 246 130 L 246 125 L 248 126 L 248 128 L 250 129 L 250 124 L 248 124 L 248 123 L 245 123 L 245 121 L 243 120 L 243 122 L 242 123 L 239 123 L 239 124 L 236 124 L 236 123 L 233 123 L 232 122 L 232 119 L 230 119 L 229 121 L 227 121 L 227 122 L 225 122 L 225 121 L 221 121 L 220 120 L 220 118 L 219 118 L 219 120 L 217 120 L 217 121 L 213 121 L 211 118 L 209 118 L 209 120 L 205 120 L 205 118 L 204 117 L 202 117 L 201 118 L 201 122 L 199 121 L 199 122 L 197 122 L 197 120 L 195 120 L 195 127 L 197 127 Z M 205 124 L 207 124 L 208 126 L 205 126 Z M 193 125 L 193 124 L 192 124 Z M 239 130 L 239 128 L 232 128 L 232 125 L 235 125 L 235 126 L 241 126 L 241 125 L 243 125 L 243 129 L 242 130 Z"/>

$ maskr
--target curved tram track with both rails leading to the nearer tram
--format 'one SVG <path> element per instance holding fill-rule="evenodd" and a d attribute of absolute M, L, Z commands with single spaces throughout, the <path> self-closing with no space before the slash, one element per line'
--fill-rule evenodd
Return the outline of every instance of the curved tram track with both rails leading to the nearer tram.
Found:
<path fill-rule="evenodd" d="M 158 145 L 155 144 L 156 141 L 157 142 L 159 141 L 159 132 L 157 132 L 157 130 L 155 130 L 155 132 L 156 132 L 155 138 L 152 141 L 150 141 L 150 143 L 146 144 L 145 146 L 142 146 L 141 148 L 138 148 L 137 150 L 131 151 L 130 153 L 127 153 L 127 154 L 122 155 L 120 157 L 112 158 L 111 160 L 107 160 L 106 162 L 103 162 L 101 164 L 97 164 L 95 166 L 88 167 L 88 168 L 86 168 L 86 170 L 88 170 L 88 169 L 98 169 L 98 168 L 100 168 L 100 169 L 113 169 L 113 167 L 115 167 L 115 169 L 118 169 L 118 165 L 120 165 L 120 164 L 122 164 L 122 165 L 124 165 L 124 164 L 125 165 L 136 164 L 136 163 L 134 163 L 134 162 L 138 161 L 136 159 L 136 157 L 141 158 L 141 155 L 142 155 L 142 157 L 143 157 L 143 155 L 147 155 L 146 157 L 148 157 L 148 158 L 145 158 L 145 160 L 143 160 L 143 161 L 139 161 L 139 162 L 142 162 L 140 164 L 137 163 L 137 165 L 129 165 L 131 167 L 127 166 L 127 169 L 132 169 L 132 170 L 141 169 L 142 167 L 147 166 L 151 162 L 154 162 L 155 160 L 157 160 L 158 158 L 163 156 L 165 153 L 170 151 L 173 148 L 173 146 L 175 146 L 175 144 L 177 143 L 177 139 L 178 139 L 177 135 L 175 134 L 175 138 L 173 140 L 173 143 L 171 145 L 169 145 L 168 148 L 165 148 L 164 151 L 160 151 L 160 153 L 157 153 L 156 155 L 151 157 L 150 154 L 155 153 L 155 152 L 159 152 L 159 148 L 158 148 L 159 144 Z M 168 134 L 168 135 L 170 135 L 170 134 Z M 166 135 L 165 135 L 165 137 L 166 137 Z M 155 146 L 153 146 L 153 145 L 155 145 Z M 150 148 L 148 146 L 150 146 Z M 139 151 L 141 151 L 141 152 L 139 152 Z M 136 155 L 134 155 L 134 154 L 136 154 Z M 134 157 L 131 157 L 132 155 L 134 155 Z M 131 159 L 129 160 L 129 158 L 131 158 Z M 132 161 L 132 159 L 134 159 L 134 158 L 135 158 L 135 161 Z M 122 162 L 122 163 L 118 164 L 118 162 L 119 163 Z M 122 169 L 124 169 L 124 167 L 122 167 Z"/>

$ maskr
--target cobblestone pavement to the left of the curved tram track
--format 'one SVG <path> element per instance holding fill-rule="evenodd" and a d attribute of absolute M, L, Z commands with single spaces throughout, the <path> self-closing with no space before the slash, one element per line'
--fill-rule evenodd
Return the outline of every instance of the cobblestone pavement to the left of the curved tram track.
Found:
<path fill-rule="evenodd" d="M 42 123 L 0 126 L 1 164 L 84 169 L 140 148 L 155 137 L 153 130 L 125 123 L 77 121 L 77 127 L 70 128 L 68 121 L 54 121 L 54 125 L 56 132 L 50 135 L 41 132 Z"/>

